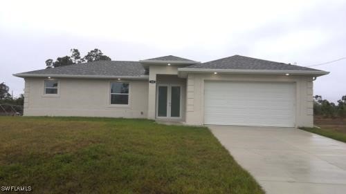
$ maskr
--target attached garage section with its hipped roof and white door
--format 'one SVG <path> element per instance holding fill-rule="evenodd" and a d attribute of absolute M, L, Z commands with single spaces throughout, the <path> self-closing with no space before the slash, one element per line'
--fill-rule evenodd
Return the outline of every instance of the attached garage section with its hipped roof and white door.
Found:
<path fill-rule="evenodd" d="M 328 72 L 234 55 L 178 68 L 187 124 L 313 127 L 313 80 Z"/>

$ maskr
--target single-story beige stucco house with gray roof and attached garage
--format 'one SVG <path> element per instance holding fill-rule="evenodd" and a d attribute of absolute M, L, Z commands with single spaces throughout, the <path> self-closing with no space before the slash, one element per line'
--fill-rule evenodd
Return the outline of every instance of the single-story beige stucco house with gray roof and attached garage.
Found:
<path fill-rule="evenodd" d="M 329 72 L 234 55 L 94 61 L 15 74 L 24 115 L 163 119 L 186 124 L 313 126 L 313 80 Z"/>

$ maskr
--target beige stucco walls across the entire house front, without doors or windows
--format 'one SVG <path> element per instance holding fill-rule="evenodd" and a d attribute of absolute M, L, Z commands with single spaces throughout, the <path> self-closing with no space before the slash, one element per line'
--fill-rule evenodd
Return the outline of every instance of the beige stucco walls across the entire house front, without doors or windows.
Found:
<path fill-rule="evenodd" d="M 44 79 L 26 78 L 24 115 L 129 117 L 156 119 L 156 87 L 158 84 L 181 84 L 183 99 L 181 120 L 201 125 L 204 120 L 204 80 L 228 81 L 293 81 L 296 86 L 295 126 L 313 126 L 312 77 L 277 75 L 189 74 L 176 77 L 179 66 L 150 66 L 149 80 L 127 81 L 129 106 L 111 106 L 110 82 L 105 79 L 58 79 L 59 95 L 44 95 Z M 168 75 L 168 76 L 167 76 Z M 125 81 L 125 80 L 124 80 Z"/>

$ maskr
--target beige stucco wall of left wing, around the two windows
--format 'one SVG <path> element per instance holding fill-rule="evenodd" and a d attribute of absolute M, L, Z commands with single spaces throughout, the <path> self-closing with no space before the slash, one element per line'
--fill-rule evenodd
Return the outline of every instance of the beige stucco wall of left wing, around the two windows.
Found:
<path fill-rule="evenodd" d="M 147 80 L 129 82 L 129 105 L 110 105 L 110 82 L 105 79 L 57 79 L 58 95 L 44 95 L 44 79 L 26 78 L 25 116 L 146 118 Z"/>

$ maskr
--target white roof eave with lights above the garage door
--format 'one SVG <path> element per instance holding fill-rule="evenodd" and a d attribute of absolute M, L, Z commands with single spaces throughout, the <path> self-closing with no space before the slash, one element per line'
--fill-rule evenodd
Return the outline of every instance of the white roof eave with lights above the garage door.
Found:
<path fill-rule="evenodd" d="M 225 74 L 247 74 L 247 75 L 310 75 L 318 77 L 327 75 L 327 71 L 315 70 L 239 70 L 239 69 L 210 69 L 210 68 L 178 68 L 179 77 L 187 77 L 189 72 L 193 73 L 207 73 L 207 72 L 220 72 Z"/>

